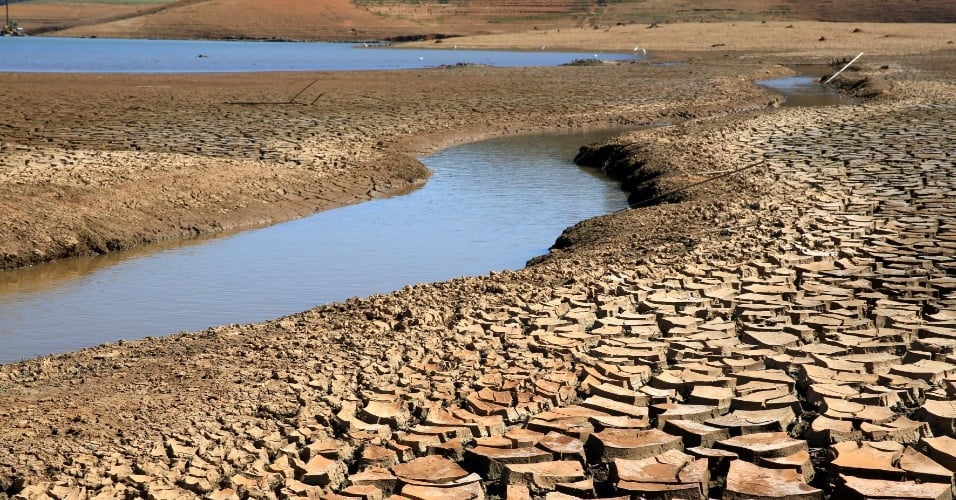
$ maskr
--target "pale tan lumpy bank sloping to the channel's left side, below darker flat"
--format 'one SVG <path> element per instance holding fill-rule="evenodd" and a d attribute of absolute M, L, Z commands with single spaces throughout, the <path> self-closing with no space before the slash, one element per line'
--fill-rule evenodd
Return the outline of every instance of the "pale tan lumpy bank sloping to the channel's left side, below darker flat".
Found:
<path fill-rule="evenodd" d="M 376 158 L 388 171 L 362 165 L 350 176 L 163 153 L 28 149 L 7 158 L 41 167 L 17 169 L 7 184 L 4 268 L 271 224 L 401 192 L 429 175 L 404 155 Z"/>

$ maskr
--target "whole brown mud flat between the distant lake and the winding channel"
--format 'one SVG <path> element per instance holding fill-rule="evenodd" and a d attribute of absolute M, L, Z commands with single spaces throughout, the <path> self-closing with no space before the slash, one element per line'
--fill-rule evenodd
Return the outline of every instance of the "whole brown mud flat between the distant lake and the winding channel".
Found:
<path fill-rule="evenodd" d="M 751 74 L 775 71 L 749 66 Z M 543 128 L 641 124 L 766 100 L 724 68 L 0 76 L 0 267 L 268 224 L 400 192 L 414 157 Z M 651 100 L 618 89 L 670 81 Z M 310 85 L 311 84 L 311 85 Z M 499 92 L 500 85 L 510 89 Z M 299 95 L 303 88 L 309 95 Z"/>

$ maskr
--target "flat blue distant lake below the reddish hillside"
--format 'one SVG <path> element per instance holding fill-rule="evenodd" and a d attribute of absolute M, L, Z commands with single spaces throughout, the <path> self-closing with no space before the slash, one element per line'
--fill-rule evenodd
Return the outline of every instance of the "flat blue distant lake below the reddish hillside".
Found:
<path fill-rule="evenodd" d="M 420 69 L 458 63 L 557 66 L 575 59 L 635 59 L 632 54 L 400 49 L 325 42 L 122 40 L 0 37 L 0 72 L 240 73 Z M 436 47 L 437 48 L 437 47 Z"/>

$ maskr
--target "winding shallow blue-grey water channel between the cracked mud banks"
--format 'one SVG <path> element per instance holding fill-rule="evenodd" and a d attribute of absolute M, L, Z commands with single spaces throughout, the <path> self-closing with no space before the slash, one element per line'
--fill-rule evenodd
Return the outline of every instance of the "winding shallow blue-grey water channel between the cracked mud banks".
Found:
<path fill-rule="evenodd" d="M 435 173 L 406 195 L 0 273 L 0 363 L 519 269 L 564 228 L 626 206 L 616 182 L 571 161 L 581 145 L 620 131 L 465 144 L 423 158 Z"/>

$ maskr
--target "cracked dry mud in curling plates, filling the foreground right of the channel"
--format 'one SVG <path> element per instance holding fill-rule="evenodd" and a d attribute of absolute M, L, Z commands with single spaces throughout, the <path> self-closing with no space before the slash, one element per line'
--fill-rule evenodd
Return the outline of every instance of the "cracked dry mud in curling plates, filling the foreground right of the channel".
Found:
<path fill-rule="evenodd" d="M 635 77 L 607 71 L 596 93 Z M 702 78 L 620 115 L 734 81 Z M 956 87 L 883 78 L 862 105 L 740 99 L 595 146 L 661 190 L 757 166 L 584 221 L 520 271 L 2 366 L 0 488 L 952 498 Z"/>

